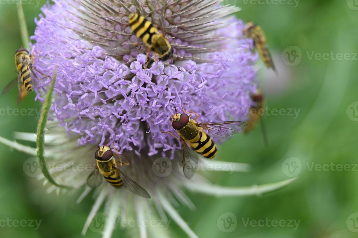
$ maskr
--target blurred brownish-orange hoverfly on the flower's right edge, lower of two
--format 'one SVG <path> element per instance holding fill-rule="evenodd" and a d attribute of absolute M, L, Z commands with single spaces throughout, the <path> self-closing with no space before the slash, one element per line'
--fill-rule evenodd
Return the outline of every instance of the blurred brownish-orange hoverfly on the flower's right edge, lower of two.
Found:
<path fill-rule="evenodd" d="M 257 90 L 257 93 L 251 95 L 251 99 L 253 102 L 256 103 L 256 105 L 252 106 L 250 108 L 250 115 L 247 120 L 248 127 L 245 128 L 245 134 L 249 133 L 255 126 L 257 125 L 257 122 L 261 122 L 261 130 L 263 135 L 263 142 L 265 143 L 265 146 L 268 146 L 268 139 L 267 139 L 267 133 L 266 133 L 266 127 L 265 123 L 263 121 L 262 115 L 260 115 L 259 110 L 263 110 L 263 95 L 261 90 Z"/>

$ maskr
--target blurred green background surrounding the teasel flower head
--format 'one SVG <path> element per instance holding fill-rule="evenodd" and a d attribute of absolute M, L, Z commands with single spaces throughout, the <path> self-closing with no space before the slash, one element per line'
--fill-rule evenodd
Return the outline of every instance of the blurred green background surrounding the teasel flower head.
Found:
<path fill-rule="evenodd" d="M 289 178 L 284 161 L 290 157 L 299 159 L 301 165 L 297 166 L 301 172 L 297 172 L 299 179 L 290 186 L 259 197 L 214 198 L 188 194 L 197 208 L 190 211 L 178 207 L 178 212 L 199 237 L 357 237 L 354 231 L 358 232 L 358 219 L 354 213 L 358 212 L 358 168 L 354 164 L 358 162 L 354 135 L 358 134 L 358 104 L 354 102 L 358 101 L 358 1 L 301 0 L 298 5 L 290 0 L 225 2 L 240 6 L 242 11 L 237 16 L 256 22 L 266 32 L 278 71 L 276 75 L 266 70 L 260 59 L 258 78 L 266 105 L 271 109 L 300 111 L 297 117 L 265 117 L 269 147 L 263 145 L 260 125 L 251 134 L 234 136 L 219 147 L 221 153 L 217 159 L 250 163 L 252 172 L 231 175 L 211 172 L 208 177 L 225 186 L 277 182 Z M 44 3 L 41 1 L 40 6 Z M 35 28 L 33 19 L 40 13 L 40 7 L 36 6 L 36 2 L 24 5 L 30 35 Z M 1 85 L 5 86 L 16 76 L 14 52 L 21 45 L 16 5 L 0 5 L 0 22 Z M 312 54 L 330 52 L 348 55 L 341 60 L 337 55 L 329 55 L 326 60 L 311 58 Z M 288 55 L 291 61 L 294 55 L 298 58 L 289 62 Z M 41 106 L 34 102 L 34 93 L 30 93 L 19 107 L 16 88 L 0 97 L 0 108 L 39 110 Z M 1 115 L 0 118 L 0 136 L 10 140 L 13 131 L 35 132 L 38 121 L 35 116 Z M 88 196 L 77 205 L 78 194 L 45 194 L 37 186 L 41 182 L 23 172 L 28 155 L 3 145 L 0 150 L 0 219 L 42 220 L 38 230 L 0 224 L 1 237 L 81 237 L 93 199 Z M 293 165 L 290 161 L 289 164 Z M 311 167 L 316 164 L 329 164 L 329 167 L 325 171 Z M 350 168 L 337 171 L 334 169 L 337 164 Z M 217 226 L 217 219 L 226 212 L 234 213 L 237 218 L 236 229 L 229 233 Z M 300 223 L 298 227 L 293 222 L 293 227 L 273 227 L 266 222 L 263 226 L 246 225 L 248 220 L 261 219 Z M 170 228 L 174 237 L 187 237 L 174 222 Z M 116 229 L 113 237 L 126 237 L 125 234 L 122 229 Z M 86 237 L 100 237 L 100 234 L 88 231 Z"/>

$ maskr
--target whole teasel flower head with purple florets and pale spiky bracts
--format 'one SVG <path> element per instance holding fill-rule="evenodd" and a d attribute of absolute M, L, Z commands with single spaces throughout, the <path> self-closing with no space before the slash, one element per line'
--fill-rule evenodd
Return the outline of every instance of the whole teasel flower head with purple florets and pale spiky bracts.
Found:
<path fill-rule="evenodd" d="M 169 215 L 189 237 L 197 237 L 171 205 L 178 199 L 193 208 L 183 189 L 240 196 L 272 191 L 290 182 L 224 188 L 198 173 L 187 179 L 180 170 L 178 139 L 162 133 L 173 132 L 171 116 L 183 112 L 182 107 L 198 113 L 203 122 L 246 121 L 245 111 L 253 105 L 250 94 L 257 87 L 253 68 L 257 55 L 243 34 L 245 24 L 232 15 L 238 10 L 216 0 L 66 0 L 43 7 L 31 39 L 36 69 L 50 76 L 57 71 L 45 153 L 62 167 L 55 166 L 52 176 L 61 184 L 85 186 L 91 171 L 58 168 L 95 166 L 97 146 L 110 145 L 129 158 L 130 166 L 120 169 L 152 197 L 145 199 L 102 183 L 94 193 L 96 202 L 83 233 L 105 203 L 107 221 L 119 214 L 123 218 L 132 204 L 133 216 L 145 219 L 158 213 L 167 219 Z M 173 59 L 163 62 L 149 52 L 147 65 L 146 47 L 129 27 L 131 12 L 158 26 L 174 49 Z M 36 82 L 38 100 L 44 101 L 50 82 L 49 78 Z M 230 118 L 225 113 L 228 107 Z M 23 133 L 20 137 L 29 138 Z M 154 162 L 161 162 L 161 157 L 172 165 L 166 176 L 155 170 Z M 234 171 L 248 169 L 246 164 L 232 164 Z M 48 191 L 54 189 L 52 185 Z M 87 187 L 79 200 L 90 190 Z M 111 237 L 114 228 L 113 222 L 107 222 L 103 237 Z M 139 226 L 139 233 L 151 237 L 151 229 L 145 226 Z"/>

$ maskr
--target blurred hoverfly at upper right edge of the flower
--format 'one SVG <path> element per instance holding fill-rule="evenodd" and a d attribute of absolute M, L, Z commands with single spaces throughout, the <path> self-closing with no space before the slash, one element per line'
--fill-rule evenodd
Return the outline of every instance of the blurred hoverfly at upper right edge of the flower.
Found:
<path fill-rule="evenodd" d="M 266 67 L 276 71 L 271 54 L 266 46 L 266 35 L 261 27 L 250 21 L 246 24 L 244 33 L 253 40 L 253 44 L 260 53 Z"/>

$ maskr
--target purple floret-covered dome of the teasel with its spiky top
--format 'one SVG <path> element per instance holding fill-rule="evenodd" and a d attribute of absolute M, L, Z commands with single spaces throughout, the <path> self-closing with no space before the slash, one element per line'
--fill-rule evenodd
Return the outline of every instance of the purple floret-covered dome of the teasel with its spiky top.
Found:
<path fill-rule="evenodd" d="M 228 103 L 231 120 L 246 120 L 256 90 L 257 56 L 243 34 L 234 7 L 211 0 L 55 1 L 43 7 L 32 40 L 36 67 L 58 70 L 53 115 L 78 145 L 114 144 L 137 155 L 179 149 L 171 116 L 192 110 L 198 121 L 223 121 Z M 130 1 L 127 1 L 130 2 Z M 128 25 L 129 12 L 141 12 L 165 31 L 174 59 L 154 61 Z M 165 12 L 165 14 L 164 14 Z M 161 24 L 164 22 L 164 24 Z M 50 80 L 38 82 L 43 100 Z M 231 108 L 232 109 L 232 108 Z"/>

